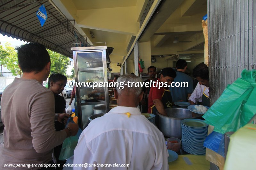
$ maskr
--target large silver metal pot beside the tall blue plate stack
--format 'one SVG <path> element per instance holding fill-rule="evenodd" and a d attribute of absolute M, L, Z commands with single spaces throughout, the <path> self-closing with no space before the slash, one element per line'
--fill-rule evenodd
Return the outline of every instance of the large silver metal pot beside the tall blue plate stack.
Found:
<path fill-rule="evenodd" d="M 196 118 L 202 115 L 193 113 L 186 108 L 168 108 L 165 109 L 167 116 L 163 116 L 157 112 L 159 115 L 159 130 L 166 137 L 176 137 L 181 139 L 181 121 L 188 118 Z"/>

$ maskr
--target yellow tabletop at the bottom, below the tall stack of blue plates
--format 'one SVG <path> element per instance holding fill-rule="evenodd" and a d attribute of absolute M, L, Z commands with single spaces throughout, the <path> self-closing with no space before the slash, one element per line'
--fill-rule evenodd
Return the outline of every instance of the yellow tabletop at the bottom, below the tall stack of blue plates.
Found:
<path fill-rule="evenodd" d="M 209 170 L 210 162 L 205 155 L 179 155 L 178 159 L 169 162 L 170 170 Z"/>

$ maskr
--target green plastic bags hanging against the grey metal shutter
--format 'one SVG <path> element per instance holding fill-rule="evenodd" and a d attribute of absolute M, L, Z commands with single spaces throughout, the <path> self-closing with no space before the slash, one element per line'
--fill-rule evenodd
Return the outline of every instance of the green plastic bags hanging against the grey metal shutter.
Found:
<path fill-rule="evenodd" d="M 222 134 L 246 125 L 256 113 L 256 70 L 243 70 L 204 114 L 205 123 Z"/>

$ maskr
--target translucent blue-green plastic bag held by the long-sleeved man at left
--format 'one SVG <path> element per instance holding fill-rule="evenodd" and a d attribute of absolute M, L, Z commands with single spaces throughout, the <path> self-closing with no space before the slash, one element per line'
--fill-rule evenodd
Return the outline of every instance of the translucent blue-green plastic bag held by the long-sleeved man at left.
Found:
<path fill-rule="evenodd" d="M 68 118 L 67 124 L 69 122 L 74 123 L 73 119 L 71 117 Z M 82 133 L 82 130 L 79 128 L 76 136 L 67 137 L 62 144 L 62 148 L 60 151 L 59 160 L 67 160 L 71 156 L 74 155 L 74 150 L 76 148 L 76 145 L 78 143 L 78 139 Z"/>

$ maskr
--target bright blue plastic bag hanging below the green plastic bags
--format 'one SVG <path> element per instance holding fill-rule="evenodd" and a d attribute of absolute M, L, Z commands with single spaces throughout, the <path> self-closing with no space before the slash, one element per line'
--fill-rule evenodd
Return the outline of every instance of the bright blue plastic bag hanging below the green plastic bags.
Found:
<path fill-rule="evenodd" d="M 204 140 L 204 147 L 211 149 L 214 152 L 219 153 L 224 157 L 224 135 L 219 132 L 213 131 L 206 139 Z"/>

